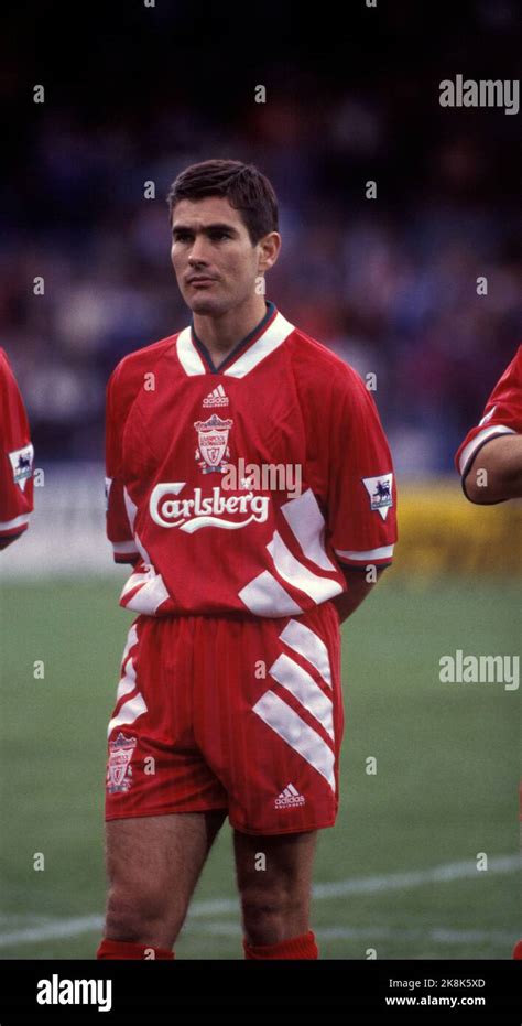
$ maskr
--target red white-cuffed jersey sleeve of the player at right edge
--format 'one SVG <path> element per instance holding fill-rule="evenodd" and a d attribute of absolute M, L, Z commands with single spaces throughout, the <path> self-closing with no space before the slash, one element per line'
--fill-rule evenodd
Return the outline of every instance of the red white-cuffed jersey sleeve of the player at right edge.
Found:
<path fill-rule="evenodd" d="M 479 449 L 501 434 L 522 433 L 522 346 L 494 386 L 482 420 L 468 431 L 455 455 L 459 474 L 466 477 Z"/>

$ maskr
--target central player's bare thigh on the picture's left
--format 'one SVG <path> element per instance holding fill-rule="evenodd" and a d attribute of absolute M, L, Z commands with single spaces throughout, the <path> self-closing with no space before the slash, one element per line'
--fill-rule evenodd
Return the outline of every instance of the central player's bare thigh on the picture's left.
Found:
<path fill-rule="evenodd" d="M 105 936 L 172 948 L 225 810 L 111 820 Z"/>

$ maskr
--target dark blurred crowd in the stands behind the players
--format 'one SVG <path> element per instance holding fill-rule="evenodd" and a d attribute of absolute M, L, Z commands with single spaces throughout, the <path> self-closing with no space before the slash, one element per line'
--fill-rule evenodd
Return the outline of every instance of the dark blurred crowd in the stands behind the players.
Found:
<path fill-rule="evenodd" d="M 85 24 L 76 12 L 62 40 L 51 7 L 32 12 L 25 57 L 3 54 L 1 87 L 12 133 L 0 345 L 39 465 L 102 458 L 116 363 L 188 323 L 165 196 L 187 164 L 222 156 L 255 163 L 279 196 L 283 249 L 267 296 L 377 374 L 400 472 L 452 473 L 521 341 L 522 115 L 442 108 L 438 84 L 513 77 L 514 0 L 463 3 L 444 24 L 429 4 L 354 4 L 342 23 L 333 9 L 308 23 L 302 6 L 270 0 L 253 28 L 241 8 L 159 0 L 100 9 L 98 21 L 90 11 Z M 24 4 L 8 17 L 21 25 Z M 33 295 L 40 276 L 45 293 Z"/>

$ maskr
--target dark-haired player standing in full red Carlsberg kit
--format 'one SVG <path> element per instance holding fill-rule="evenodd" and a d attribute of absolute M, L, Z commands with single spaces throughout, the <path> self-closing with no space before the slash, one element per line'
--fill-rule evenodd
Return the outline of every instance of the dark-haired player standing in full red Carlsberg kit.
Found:
<path fill-rule="evenodd" d="M 108 727 L 97 957 L 174 958 L 228 817 L 242 953 L 316 959 L 339 625 L 391 563 L 393 467 L 359 376 L 264 298 L 281 248 L 267 177 L 205 161 L 167 202 L 191 323 L 126 356 L 107 392 L 108 537 L 137 618 Z"/>

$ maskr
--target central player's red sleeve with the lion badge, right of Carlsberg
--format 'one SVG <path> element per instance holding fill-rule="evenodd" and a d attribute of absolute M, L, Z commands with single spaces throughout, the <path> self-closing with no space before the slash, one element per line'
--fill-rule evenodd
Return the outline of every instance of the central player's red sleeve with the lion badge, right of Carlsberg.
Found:
<path fill-rule="evenodd" d="M 337 393 L 337 395 L 336 395 Z M 341 564 L 388 566 L 396 541 L 393 464 L 372 396 L 351 368 L 330 408 L 328 529 Z"/>

